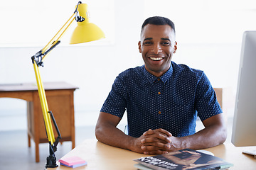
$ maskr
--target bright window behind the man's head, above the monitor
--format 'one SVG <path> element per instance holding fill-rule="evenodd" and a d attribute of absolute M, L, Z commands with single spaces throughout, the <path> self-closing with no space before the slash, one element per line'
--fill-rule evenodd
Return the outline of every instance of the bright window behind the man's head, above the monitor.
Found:
<path fill-rule="evenodd" d="M 255 0 L 145 0 L 144 16 L 166 16 L 183 43 L 240 43 L 245 30 L 256 30 Z"/>

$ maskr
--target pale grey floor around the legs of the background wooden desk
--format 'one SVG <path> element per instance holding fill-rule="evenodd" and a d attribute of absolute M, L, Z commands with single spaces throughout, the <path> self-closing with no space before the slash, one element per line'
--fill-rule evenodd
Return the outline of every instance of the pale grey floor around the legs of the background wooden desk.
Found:
<path fill-rule="evenodd" d="M 228 139 L 230 142 L 232 119 L 228 120 Z M 198 122 L 197 129 L 202 127 Z M 95 137 L 94 126 L 79 126 L 75 128 L 76 146 L 83 140 Z M 31 142 L 31 148 L 28 148 L 28 139 L 26 130 L 0 131 L 0 170 L 18 169 L 19 170 L 37 170 L 45 169 L 46 157 L 48 157 L 48 144 L 39 145 L 40 162 L 35 162 L 35 145 Z M 70 152 L 71 142 L 63 142 L 58 145 L 55 157 L 60 159 Z"/>

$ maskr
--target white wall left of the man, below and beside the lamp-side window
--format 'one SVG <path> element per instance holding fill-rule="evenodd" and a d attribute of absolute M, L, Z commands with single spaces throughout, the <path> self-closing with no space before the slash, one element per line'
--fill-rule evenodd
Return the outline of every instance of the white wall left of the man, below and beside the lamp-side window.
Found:
<path fill-rule="evenodd" d="M 114 6 L 114 44 L 56 47 L 40 69 L 43 81 L 67 81 L 79 87 L 75 125 L 94 125 L 114 78 L 124 69 L 142 64 L 137 42 L 144 20 L 143 1 L 114 1 Z M 36 82 L 31 57 L 41 48 L 0 47 L 0 84 Z M 10 115 L 14 121 L 26 117 L 26 102 L 0 98 L 0 130 L 12 128 L 12 123 L 6 123 Z"/>

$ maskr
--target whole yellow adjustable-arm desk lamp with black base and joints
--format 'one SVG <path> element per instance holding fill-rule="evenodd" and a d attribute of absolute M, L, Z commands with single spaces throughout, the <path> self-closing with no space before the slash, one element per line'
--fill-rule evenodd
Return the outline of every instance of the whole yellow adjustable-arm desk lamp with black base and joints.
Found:
<path fill-rule="evenodd" d="M 36 55 L 33 55 L 33 57 L 31 57 L 33 62 L 33 68 L 36 74 L 38 94 L 39 94 L 41 107 L 43 111 L 43 120 L 46 127 L 46 136 L 48 138 L 49 149 L 50 149 L 49 151 L 50 155 L 46 159 L 46 168 L 54 168 L 58 166 L 56 164 L 56 157 L 54 152 L 57 150 L 57 145 L 58 145 L 59 139 L 61 138 L 61 135 L 60 135 L 60 131 L 58 130 L 58 126 L 55 122 L 55 119 L 53 117 L 53 113 L 48 109 L 46 92 L 45 92 L 45 89 L 43 88 L 43 82 L 41 81 L 39 67 L 40 66 L 43 67 L 43 60 L 46 58 L 48 53 L 60 43 L 60 38 L 68 30 L 68 28 L 70 27 L 71 23 L 73 23 L 73 21 L 77 21 L 78 26 L 75 28 L 73 32 L 72 38 L 70 40 L 70 44 L 90 42 L 94 40 L 99 40 L 101 38 L 105 38 L 105 34 L 102 32 L 102 30 L 99 27 L 97 27 L 94 23 L 90 23 L 89 18 L 90 17 L 87 11 L 87 4 L 82 4 L 82 2 L 79 1 L 78 5 L 76 6 L 75 12 L 64 24 L 64 26 L 60 28 L 58 33 L 50 40 L 50 42 L 48 42 L 46 47 L 43 47 L 42 50 L 40 50 L 39 52 L 36 53 Z M 56 140 L 54 137 L 51 120 L 53 121 L 55 130 L 58 133 L 58 137 Z"/>

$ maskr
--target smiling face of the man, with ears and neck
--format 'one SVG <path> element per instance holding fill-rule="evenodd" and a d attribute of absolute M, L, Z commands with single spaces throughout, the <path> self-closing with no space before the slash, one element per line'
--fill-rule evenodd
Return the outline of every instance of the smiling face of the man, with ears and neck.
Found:
<path fill-rule="evenodd" d="M 147 24 L 138 45 L 146 70 L 161 77 L 170 68 L 171 57 L 177 48 L 174 30 L 169 25 Z"/>

